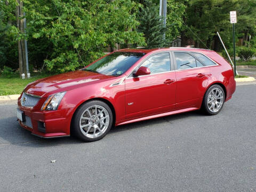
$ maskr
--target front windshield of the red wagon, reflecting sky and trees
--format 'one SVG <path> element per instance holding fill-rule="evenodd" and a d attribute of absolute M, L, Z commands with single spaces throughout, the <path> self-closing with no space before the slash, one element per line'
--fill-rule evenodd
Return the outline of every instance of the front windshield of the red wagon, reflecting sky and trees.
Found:
<path fill-rule="evenodd" d="M 114 52 L 82 70 L 119 76 L 125 73 L 143 55 L 145 53 Z"/>

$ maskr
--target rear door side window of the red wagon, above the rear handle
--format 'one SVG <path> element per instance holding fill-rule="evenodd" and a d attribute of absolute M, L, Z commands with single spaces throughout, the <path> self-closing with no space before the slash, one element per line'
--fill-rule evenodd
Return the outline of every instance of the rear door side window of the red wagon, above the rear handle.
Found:
<path fill-rule="evenodd" d="M 188 53 L 174 52 L 177 69 L 190 69 L 196 67 L 196 59 Z"/>

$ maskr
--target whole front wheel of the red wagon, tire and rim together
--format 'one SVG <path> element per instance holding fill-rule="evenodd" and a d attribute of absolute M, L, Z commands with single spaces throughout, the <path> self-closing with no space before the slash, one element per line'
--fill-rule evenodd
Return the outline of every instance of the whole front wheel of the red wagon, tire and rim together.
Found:
<path fill-rule="evenodd" d="M 80 106 L 73 118 L 73 131 L 84 141 L 97 141 L 105 137 L 113 124 L 113 114 L 102 101 L 93 100 Z"/>

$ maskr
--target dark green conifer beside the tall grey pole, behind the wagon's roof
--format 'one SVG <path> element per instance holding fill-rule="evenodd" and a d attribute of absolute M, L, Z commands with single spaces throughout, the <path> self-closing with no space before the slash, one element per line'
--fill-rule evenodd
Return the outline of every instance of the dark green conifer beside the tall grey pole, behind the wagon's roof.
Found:
<path fill-rule="evenodd" d="M 163 38 L 166 28 L 163 26 L 162 18 L 159 17 L 158 6 L 150 0 L 143 2 L 138 12 L 140 25 L 138 31 L 144 34 L 148 47 L 164 47 L 169 42 Z"/>

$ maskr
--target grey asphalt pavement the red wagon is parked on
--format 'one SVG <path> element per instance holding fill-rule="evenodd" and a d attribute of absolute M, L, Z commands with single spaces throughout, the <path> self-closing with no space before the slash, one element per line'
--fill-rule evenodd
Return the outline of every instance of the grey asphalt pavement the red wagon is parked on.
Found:
<path fill-rule="evenodd" d="M 0 106 L 0 191 L 256 191 L 256 85 L 221 113 L 116 127 L 97 142 L 41 139 Z M 55 163 L 50 163 L 56 159 Z"/>

